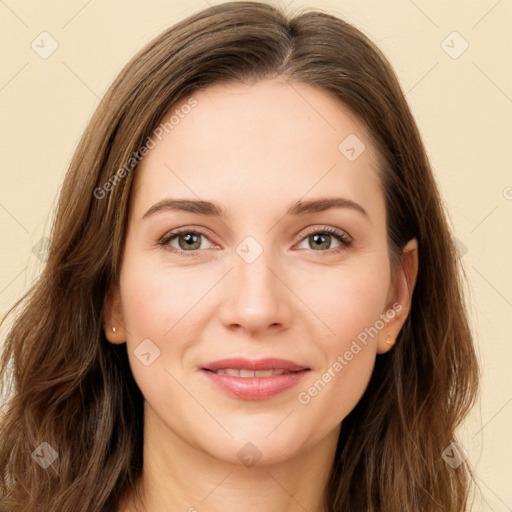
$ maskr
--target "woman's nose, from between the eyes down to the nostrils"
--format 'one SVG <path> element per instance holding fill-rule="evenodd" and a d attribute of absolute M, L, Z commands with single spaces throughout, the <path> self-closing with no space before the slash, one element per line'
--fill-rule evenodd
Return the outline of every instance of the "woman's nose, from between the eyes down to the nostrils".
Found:
<path fill-rule="evenodd" d="M 220 308 L 226 328 L 252 337 L 289 327 L 297 299 L 286 285 L 282 267 L 269 253 L 263 251 L 252 263 L 233 255 L 234 268 L 224 280 Z"/>

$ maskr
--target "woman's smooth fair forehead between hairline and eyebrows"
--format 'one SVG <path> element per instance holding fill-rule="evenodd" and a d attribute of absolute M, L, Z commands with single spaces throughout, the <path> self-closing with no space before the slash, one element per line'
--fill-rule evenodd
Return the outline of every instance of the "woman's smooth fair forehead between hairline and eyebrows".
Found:
<path fill-rule="evenodd" d="M 371 203 L 380 194 L 364 125 L 320 88 L 280 79 L 219 84 L 176 103 L 166 122 L 136 169 L 139 218 L 165 196 L 261 211 L 304 196 L 339 192 Z"/>

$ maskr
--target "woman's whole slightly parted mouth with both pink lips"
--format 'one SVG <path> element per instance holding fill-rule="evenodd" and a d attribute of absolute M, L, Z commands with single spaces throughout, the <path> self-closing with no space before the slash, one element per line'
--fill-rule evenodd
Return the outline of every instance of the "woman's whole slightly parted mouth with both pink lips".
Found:
<path fill-rule="evenodd" d="M 200 368 L 215 389 L 239 400 L 271 398 L 298 384 L 309 370 L 301 364 L 278 358 L 222 359 Z"/>

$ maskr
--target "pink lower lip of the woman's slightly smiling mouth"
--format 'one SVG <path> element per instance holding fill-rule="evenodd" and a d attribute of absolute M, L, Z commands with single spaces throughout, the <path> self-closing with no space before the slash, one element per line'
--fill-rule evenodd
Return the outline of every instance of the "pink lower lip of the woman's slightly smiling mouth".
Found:
<path fill-rule="evenodd" d="M 208 370 L 201 372 L 221 391 L 240 400 L 266 400 L 297 385 L 309 370 L 272 377 L 234 377 Z"/>

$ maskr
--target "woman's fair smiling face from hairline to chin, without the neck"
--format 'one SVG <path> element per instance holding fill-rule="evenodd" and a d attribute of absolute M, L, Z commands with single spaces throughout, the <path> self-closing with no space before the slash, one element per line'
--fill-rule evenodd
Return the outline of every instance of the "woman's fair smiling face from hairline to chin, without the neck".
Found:
<path fill-rule="evenodd" d="M 405 320 L 377 155 L 340 103 L 303 83 L 192 98 L 134 171 L 107 335 L 126 340 L 152 432 L 226 462 L 274 463 L 337 437 Z M 227 358 L 246 361 L 217 366 L 304 369 L 205 369 Z"/>

